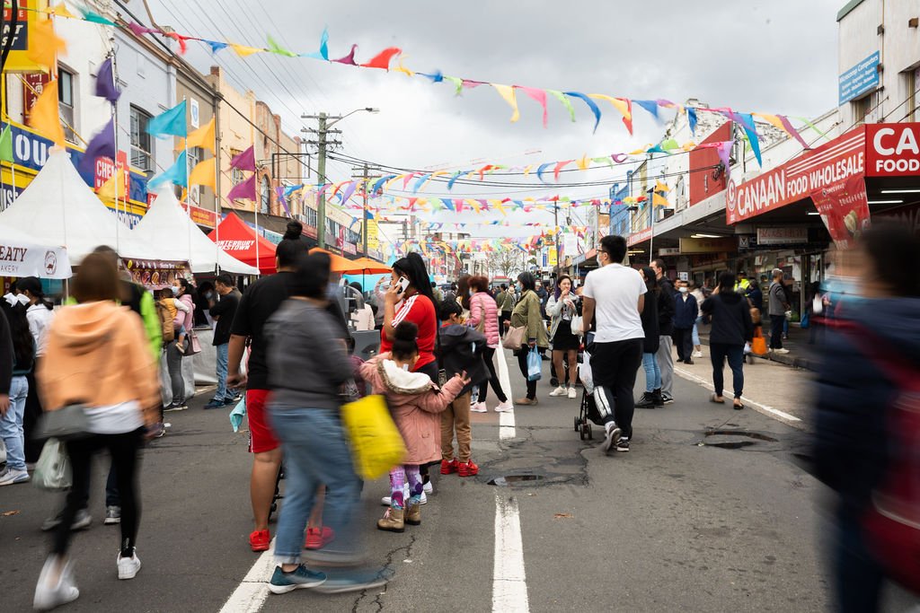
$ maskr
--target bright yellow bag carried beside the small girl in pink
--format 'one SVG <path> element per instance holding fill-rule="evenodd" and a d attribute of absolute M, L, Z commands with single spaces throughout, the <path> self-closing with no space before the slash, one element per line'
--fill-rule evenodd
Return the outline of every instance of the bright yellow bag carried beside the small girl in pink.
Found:
<path fill-rule="evenodd" d="M 365 480 L 384 475 L 406 457 L 406 443 L 380 394 L 342 405 L 354 470 Z"/>

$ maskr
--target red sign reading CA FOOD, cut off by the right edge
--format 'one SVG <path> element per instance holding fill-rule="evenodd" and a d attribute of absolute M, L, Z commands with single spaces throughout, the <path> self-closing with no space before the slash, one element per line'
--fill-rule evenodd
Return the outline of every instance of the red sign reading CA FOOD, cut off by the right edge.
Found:
<path fill-rule="evenodd" d="M 866 126 L 867 176 L 920 175 L 920 123 Z"/>

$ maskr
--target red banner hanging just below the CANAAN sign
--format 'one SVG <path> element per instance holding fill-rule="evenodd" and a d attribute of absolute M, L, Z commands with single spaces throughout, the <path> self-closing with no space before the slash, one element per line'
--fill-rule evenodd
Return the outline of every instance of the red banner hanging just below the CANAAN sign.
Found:
<path fill-rule="evenodd" d="M 868 229 L 868 196 L 861 175 L 812 191 L 811 199 L 838 248 L 854 246 Z"/>

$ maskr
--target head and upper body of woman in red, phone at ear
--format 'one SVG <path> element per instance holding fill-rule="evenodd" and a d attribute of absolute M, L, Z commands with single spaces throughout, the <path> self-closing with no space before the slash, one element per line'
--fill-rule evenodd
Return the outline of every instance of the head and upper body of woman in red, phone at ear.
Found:
<path fill-rule="evenodd" d="M 438 317 L 431 293 L 431 280 L 421 255 L 411 253 L 393 265 L 390 287 L 384 295 L 384 328 L 380 333 L 380 353 L 393 348 L 397 325 L 411 322 L 419 327 L 419 361 L 414 372 L 423 372 L 435 384 L 438 365 L 434 358 Z"/>

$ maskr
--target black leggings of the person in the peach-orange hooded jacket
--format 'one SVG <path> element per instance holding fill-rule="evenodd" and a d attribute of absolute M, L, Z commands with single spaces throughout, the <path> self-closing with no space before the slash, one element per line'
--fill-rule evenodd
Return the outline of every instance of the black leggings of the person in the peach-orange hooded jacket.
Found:
<path fill-rule="evenodd" d="M 86 505 L 89 491 L 89 474 L 93 456 L 100 449 L 109 449 L 115 478 L 121 494 L 121 553 L 130 555 L 137 539 L 137 528 L 141 520 L 141 501 L 137 490 L 137 469 L 140 456 L 138 450 L 144 437 L 144 428 L 124 434 L 96 434 L 86 438 L 68 441 L 67 457 L 74 474 L 74 484 L 67 494 L 67 505 L 63 518 L 54 529 L 52 551 L 58 555 L 67 552 L 70 545 L 71 524 L 76 512 Z"/>

